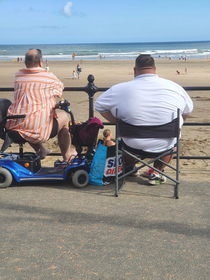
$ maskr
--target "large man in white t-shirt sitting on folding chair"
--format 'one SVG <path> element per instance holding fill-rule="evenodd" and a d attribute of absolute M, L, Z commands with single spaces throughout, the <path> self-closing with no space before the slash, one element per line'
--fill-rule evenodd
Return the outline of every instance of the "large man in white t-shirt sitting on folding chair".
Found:
<path fill-rule="evenodd" d="M 116 108 L 119 118 L 133 125 L 161 125 L 176 118 L 177 108 L 181 112 L 181 126 L 193 110 L 193 102 L 187 92 L 178 84 L 159 78 L 156 75 L 154 59 L 147 54 L 139 55 L 135 61 L 134 79 L 117 84 L 95 102 L 95 109 L 111 123 L 115 123 Z M 130 151 L 142 150 L 150 153 L 162 153 L 174 147 L 175 139 L 122 139 Z M 171 156 L 163 160 L 169 162 Z M 154 165 L 162 171 L 164 165 Z M 164 183 L 166 178 L 153 171 L 150 184 Z"/>

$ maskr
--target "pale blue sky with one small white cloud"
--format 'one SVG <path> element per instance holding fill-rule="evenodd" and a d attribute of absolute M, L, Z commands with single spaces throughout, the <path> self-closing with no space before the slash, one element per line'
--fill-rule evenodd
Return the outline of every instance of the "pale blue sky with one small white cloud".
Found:
<path fill-rule="evenodd" d="M 210 0 L 0 0 L 0 44 L 210 41 Z"/>

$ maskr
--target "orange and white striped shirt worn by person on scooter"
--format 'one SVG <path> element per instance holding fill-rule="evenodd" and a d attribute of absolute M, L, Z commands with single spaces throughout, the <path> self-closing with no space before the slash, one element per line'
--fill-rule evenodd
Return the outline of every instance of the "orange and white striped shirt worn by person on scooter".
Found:
<path fill-rule="evenodd" d="M 7 115 L 25 114 L 23 119 L 8 120 L 6 128 L 18 131 L 28 142 L 46 142 L 56 118 L 55 97 L 60 98 L 63 83 L 41 67 L 23 68 L 15 74 L 14 102 Z"/>

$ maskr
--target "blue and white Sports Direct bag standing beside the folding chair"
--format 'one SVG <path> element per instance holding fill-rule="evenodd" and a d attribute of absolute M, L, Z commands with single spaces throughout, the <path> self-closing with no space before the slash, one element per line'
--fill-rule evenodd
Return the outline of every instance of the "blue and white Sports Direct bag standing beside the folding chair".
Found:
<path fill-rule="evenodd" d="M 104 186 L 115 180 L 116 173 L 115 146 L 105 147 L 101 141 L 90 166 L 89 184 Z M 118 158 L 118 175 L 122 173 L 122 155 Z"/>

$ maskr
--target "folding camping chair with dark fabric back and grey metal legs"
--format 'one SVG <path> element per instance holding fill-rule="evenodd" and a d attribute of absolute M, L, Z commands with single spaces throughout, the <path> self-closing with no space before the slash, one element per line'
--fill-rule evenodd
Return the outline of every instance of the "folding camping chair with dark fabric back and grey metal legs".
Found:
<path fill-rule="evenodd" d="M 115 185 L 115 196 L 117 197 L 120 191 L 122 190 L 124 184 L 125 184 L 125 177 L 131 175 L 132 173 L 136 172 L 137 170 L 147 166 L 148 168 L 152 168 L 153 170 L 156 170 L 161 175 L 164 175 L 169 180 L 173 181 L 175 183 L 174 186 L 174 197 L 179 198 L 179 153 L 180 153 L 180 109 L 177 110 L 177 117 L 172 120 L 169 123 L 166 123 L 164 125 L 158 125 L 158 126 L 135 126 L 128 123 L 125 123 L 121 119 L 118 118 L 118 109 L 116 109 L 116 170 L 118 170 L 118 157 L 119 154 L 123 155 L 123 174 L 118 175 L 118 172 L 116 172 L 116 185 Z M 122 147 L 119 149 L 119 141 L 120 137 L 127 137 L 127 138 L 176 138 L 176 150 L 173 151 L 173 149 L 168 150 L 162 154 L 158 154 L 155 157 L 149 157 L 145 155 L 133 155 L 132 153 L 125 150 L 125 148 Z M 135 167 L 131 171 L 126 172 L 125 169 L 125 155 L 130 156 L 136 160 L 136 162 L 140 162 L 142 165 L 139 167 Z M 161 158 L 167 155 L 176 155 L 173 157 L 173 159 L 176 159 L 176 167 L 173 167 L 171 164 L 165 163 Z M 152 158 L 152 159 L 151 159 Z M 154 163 L 156 160 L 159 160 L 160 162 L 164 163 L 167 167 L 172 169 L 176 176 L 175 178 L 167 175 L 166 173 L 163 173 L 156 168 L 154 168 L 151 164 Z M 119 186 L 119 180 L 122 179 L 122 183 Z"/>

